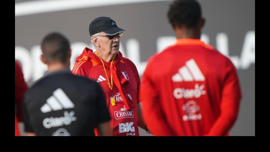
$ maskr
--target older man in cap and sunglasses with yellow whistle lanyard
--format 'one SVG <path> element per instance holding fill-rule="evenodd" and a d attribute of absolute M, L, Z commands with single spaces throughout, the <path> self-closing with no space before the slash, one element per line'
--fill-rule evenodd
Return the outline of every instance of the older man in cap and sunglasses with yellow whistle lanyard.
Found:
<path fill-rule="evenodd" d="M 101 85 L 114 135 L 139 136 L 138 125 L 145 129 L 138 100 L 140 77 L 134 63 L 119 52 L 123 31 L 110 17 L 93 20 L 89 34 L 96 51 L 85 47 L 72 73 L 94 79 Z M 99 134 L 97 130 L 95 134 Z"/>

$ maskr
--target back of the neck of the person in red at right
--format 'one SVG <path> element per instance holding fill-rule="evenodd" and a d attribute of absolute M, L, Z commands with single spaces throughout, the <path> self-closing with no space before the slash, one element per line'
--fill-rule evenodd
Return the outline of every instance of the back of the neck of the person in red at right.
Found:
<path fill-rule="evenodd" d="M 201 31 L 196 28 L 187 28 L 187 27 L 177 27 L 175 30 L 176 38 L 192 38 L 192 39 L 200 39 Z"/>

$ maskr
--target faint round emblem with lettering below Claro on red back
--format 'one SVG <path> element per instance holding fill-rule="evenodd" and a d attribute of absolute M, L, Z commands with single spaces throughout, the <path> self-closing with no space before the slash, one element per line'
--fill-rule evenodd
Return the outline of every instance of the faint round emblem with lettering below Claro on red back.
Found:
<path fill-rule="evenodd" d="M 193 100 L 187 102 L 183 105 L 182 109 L 185 111 L 187 115 L 183 116 L 183 120 L 201 120 L 202 114 L 195 114 L 197 111 L 200 110 L 200 106 Z"/>

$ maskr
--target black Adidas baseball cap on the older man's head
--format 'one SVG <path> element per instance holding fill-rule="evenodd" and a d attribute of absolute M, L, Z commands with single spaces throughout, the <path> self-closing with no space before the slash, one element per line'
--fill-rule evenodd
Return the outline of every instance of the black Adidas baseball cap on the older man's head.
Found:
<path fill-rule="evenodd" d="M 98 17 L 93 20 L 89 25 L 89 34 L 90 36 L 97 34 L 99 32 L 104 32 L 107 35 L 115 35 L 119 32 L 126 31 L 120 29 L 114 20 L 110 17 Z"/>

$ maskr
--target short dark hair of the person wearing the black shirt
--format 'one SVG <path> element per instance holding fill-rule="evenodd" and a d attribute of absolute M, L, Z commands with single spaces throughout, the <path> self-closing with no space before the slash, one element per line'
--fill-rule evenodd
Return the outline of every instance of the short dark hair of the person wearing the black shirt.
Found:
<path fill-rule="evenodd" d="M 70 44 L 67 38 L 57 32 L 46 35 L 41 42 L 41 50 L 48 63 L 65 63 Z"/>

